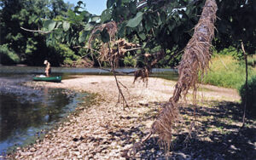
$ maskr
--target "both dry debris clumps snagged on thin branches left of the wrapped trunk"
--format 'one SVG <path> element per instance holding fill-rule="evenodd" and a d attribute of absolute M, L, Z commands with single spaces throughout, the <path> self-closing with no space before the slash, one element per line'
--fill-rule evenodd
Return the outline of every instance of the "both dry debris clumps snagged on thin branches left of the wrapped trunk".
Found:
<path fill-rule="evenodd" d="M 123 106 L 128 106 L 127 101 L 125 100 L 125 96 L 123 94 L 123 91 L 121 88 L 124 88 L 127 90 L 127 88 L 121 84 L 118 81 L 118 78 L 116 77 L 116 73 L 119 73 L 119 71 L 116 71 L 116 68 L 119 67 L 119 60 L 122 60 L 125 58 L 125 54 L 131 50 L 137 50 L 141 49 L 140 46 L 138 46 L 135 43 L 128 43 L 124 38 L 116 39 L 116 32 L 118 31 L 117 24 L 114 21 L 109 21 L 106 24 L 102 24 L 100 26 L 96 26 L 93 31 L 91 31 L 90 38 L 89 38 L 89 45 L 88 48 L 91 48 L 91 43 L 96 39 L 97 36 L 102 36 L 102 31 L 107 31 L 107 39 L 108 41 L 103 41 L 100 44 L 100 49 L 97 50 L 97 57 L 96 59 L 99 62 L 99 65 L 101 66 L 102 62 L 108 62 L 108 65 L 111 66 L 111 71 L 113 72 L 113 76 L 115 78 L 117 87 L 119 89 L 119 100 L 118 103 L 121 102 L 120 98 L 122 99 Z M 105 32 L 106 34 L 106 32 Z M 93 51 L 96 51 L 93 49 Z M 143 80 L 143 83 L 146 83 L 146 86 L 148 86 L 148 74 L 151 72 L 152 67 L 164 56 L 165 52 L 161 50 L 160 52 L 154 53 L 154 54 L 143 54 L 144 61 L 146 66 L 144 66 L 142 69 L 138 69 L 137 71 L 131 71 L 125 74 L 134 73 L 134 81 L 135 83 L 140 77 L 140 79 Z M 93 56 L 92 56 L 93 57 Z M 152 62 L 148 61 L 149 57 L 153 57 L 154 60 Z M 102 67 L 101 67 L 102 68 Z M 106 69 L 103 69 L 106 70 Z"/>

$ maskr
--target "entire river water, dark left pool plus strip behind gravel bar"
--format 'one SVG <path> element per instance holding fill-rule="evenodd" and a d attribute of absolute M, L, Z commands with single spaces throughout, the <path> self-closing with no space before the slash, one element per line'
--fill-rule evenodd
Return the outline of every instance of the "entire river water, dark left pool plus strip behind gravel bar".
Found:
<path fill-rule="evenodd" d="M 119 71 L 134 71 L 121 68 Z M 44 73 L 44 67 L 0 66 L 0 155 L 17 146 L 32 143 L 44 130 L 73 111 L 88 94 L 67 89 L 31 88 L 22 85 Z M 109 75 L 96 68 L 53 67 L 52 75 L 62 79 L 77 75 Z M 152 77 L 177 80 L 172 69 L 154 69 Z"/>

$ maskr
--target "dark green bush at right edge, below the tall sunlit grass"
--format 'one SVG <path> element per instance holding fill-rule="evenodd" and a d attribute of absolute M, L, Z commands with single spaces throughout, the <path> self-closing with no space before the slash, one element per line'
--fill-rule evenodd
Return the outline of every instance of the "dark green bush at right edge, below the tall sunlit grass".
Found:
<path fill-rule="evenodd" d="M 250 115 L 256 117 L 256 76 L 248 80 L 247 95 L 245 83 L 239 89 L 239 94 L 241 96 L 241 104 L 244 105 L 247 99 L 247 111 Z"/>

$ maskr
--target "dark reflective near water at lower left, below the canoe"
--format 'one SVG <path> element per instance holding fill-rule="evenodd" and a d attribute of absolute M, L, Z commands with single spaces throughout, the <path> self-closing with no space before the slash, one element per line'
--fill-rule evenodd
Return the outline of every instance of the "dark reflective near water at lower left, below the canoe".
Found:
<path fill-rule="evenodd" d="M 85 94 L 67 89 L 31 89 L 0 78 L 0 155 L 11 146 L 26 145 L 36 134 L 73 109 Z M 10 89 L 9 93 L 6 93 Z M 3 92 L 2 90 L 3 89 Z M 23 94 L 22 94 L 23 93 Z"/>

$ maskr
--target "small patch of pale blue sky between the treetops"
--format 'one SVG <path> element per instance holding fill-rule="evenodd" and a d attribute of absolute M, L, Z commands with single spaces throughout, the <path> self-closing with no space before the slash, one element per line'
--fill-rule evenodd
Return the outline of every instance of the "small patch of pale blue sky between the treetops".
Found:
<path fill-rule="evenodd" d="M 107 0 L 80 0 L 86 4 L 85 9 L 90 12 L 90 14 L 102 14 L 104 9 L 107 9 Z M 76 4 L 79 0 L 64 0 L 65 3 Z"/>

